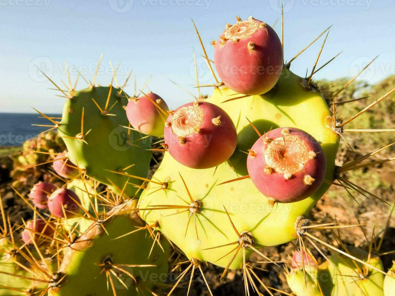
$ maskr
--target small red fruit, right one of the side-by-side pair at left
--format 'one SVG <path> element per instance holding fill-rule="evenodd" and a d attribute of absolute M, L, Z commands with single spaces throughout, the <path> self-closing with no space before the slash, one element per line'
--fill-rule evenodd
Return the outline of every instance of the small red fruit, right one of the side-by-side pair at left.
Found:
<path fill-rule="evenodd" d="M 74 191 L 60 188 L 55 190 L 48 198 L 48 209 L 55 217 L 71 218 L 79 211 L 78 204 L 80 203 Z"/>

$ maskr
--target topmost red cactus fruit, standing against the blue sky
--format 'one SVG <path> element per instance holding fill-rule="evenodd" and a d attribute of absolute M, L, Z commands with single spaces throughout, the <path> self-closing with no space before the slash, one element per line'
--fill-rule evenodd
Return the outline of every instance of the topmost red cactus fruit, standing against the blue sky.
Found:
<path fill-rule="evenodd" d="M 280 78 L 281 41 L 268 24 L 249 17 L 229 24 L 214 45 L 214 65 L 226 86 L 240 94 L 268 92 Z"/>

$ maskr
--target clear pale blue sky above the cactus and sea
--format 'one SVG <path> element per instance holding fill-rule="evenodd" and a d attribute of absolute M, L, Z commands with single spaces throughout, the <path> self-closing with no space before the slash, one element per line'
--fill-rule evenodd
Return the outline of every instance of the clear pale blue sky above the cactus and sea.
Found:
<path fill-rule="evenodd" d="M 61 85 L 67 83 L 64 61 L 92 79 L 103 52 L 98 83 L 111 81 L 109 60 L 119 70 L 122 84 L 133 69 L 137 87 L 152 75 L 149 87 L 177 107 L 191 97 L 192 49 L 196 50 L 200 82 L 212 82 L 191 18 L 210 57 L 217 39 L 235 15 L 272 25 L 280 18 L 278 0 L 0 0 L 0 112 L 62 111 L 63 98 L 49 90 L 38 75 L 46 71 Z M 395 25 L 392 0 L 284 0 L 284 54 L 289 60 L 325 28 L 333 24 L 318 66 L 343 51 L 316 74 L 316 79 L 351 76 L 380 54 L 362 79 L 377 82 L 395 74 Z M 280 35 L 280 21 L 275 30 Z M 291 69 L 305 75 L 312 68 L 323 37 L 293 62 Z M 74 82 L 77 75 L 72 75 Z M 86 83 L 80 79 L 79 88 Z M 126 92 L 133 93 L 130 81 Z M 209 92 L 209 90 L 207 90 Z"/>

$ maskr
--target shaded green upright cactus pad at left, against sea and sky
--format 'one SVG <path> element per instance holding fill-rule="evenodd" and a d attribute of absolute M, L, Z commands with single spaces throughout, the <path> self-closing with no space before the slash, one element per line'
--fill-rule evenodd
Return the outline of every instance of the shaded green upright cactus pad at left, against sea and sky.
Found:
<path fill-rule="evenodd" d="M 151 148 L 150 139 L 137 141 L 143 135 L 132 130 L 129 130 L 130 135 L 128 135 L 128 129 L 122 127 L 129 124 L 123 109 L 128 99 L 124 93 L 117 95 L 118 93 L 118 89 L 109 86 L 95 86 L 75 92 L 74 96 L 64 104 L 58 130 L 67 146 L 70 160 L 78 167 L 86 169 L 87 175 L 91 178 L 109 185 L 113 191 L 120 193 L 128 180 L 133 184 L 141 184 L 141 182 L 114 174 L 109 170 L 119 171 L 134 165 L 125 172 L 145 178 L 152 153 L 146 150 Z M 109 98 L 108 103 L 107 98 Z M 81 135 L 83 110 L 84 137 L 70 138 Z M 124 193 L 133 197 L 136 190 L 135 186 L 127 185 Z"/>

